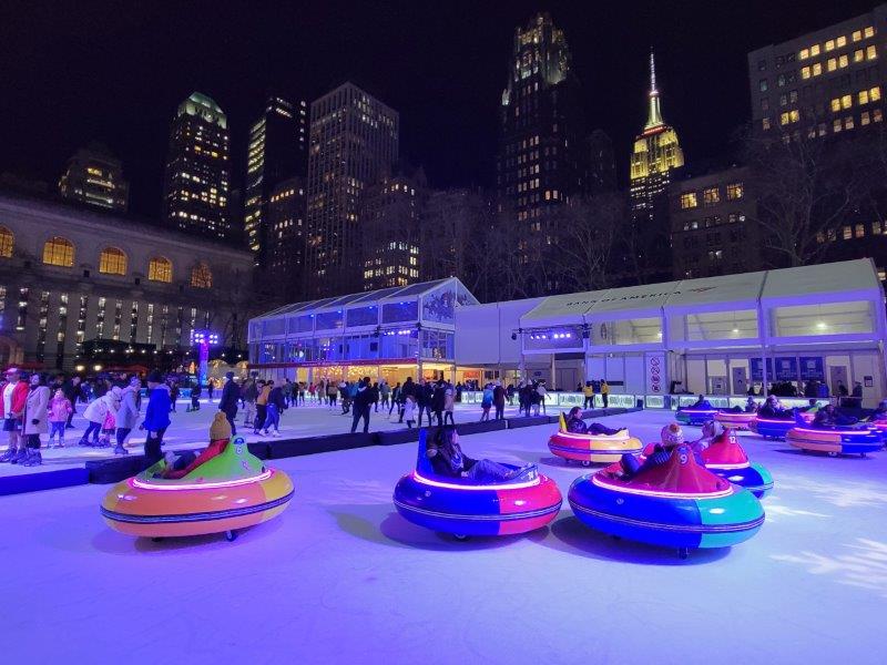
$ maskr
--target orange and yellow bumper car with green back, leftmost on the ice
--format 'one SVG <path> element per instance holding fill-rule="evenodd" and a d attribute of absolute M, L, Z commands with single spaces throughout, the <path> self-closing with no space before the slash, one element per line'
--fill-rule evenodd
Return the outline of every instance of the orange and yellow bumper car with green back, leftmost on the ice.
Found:
<path fill-rule="evenodd" d="M 111 488 L 102 516 L 130 535 L 167 538 L 225 533 L 266 522 L 293 498 L 293 482 L 283 471 L 266 468 L 233 437 L 222 452 L 180 479 L 165 479 L 161 460 Z"/>

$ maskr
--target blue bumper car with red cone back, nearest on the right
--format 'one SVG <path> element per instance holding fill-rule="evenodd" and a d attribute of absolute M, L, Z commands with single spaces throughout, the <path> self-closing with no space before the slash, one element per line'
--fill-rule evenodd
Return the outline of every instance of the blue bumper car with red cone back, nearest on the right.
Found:
<path fill-rule="evenodd" d="M 577 479 L 569 492 L 577 518 L 597 531 L 687 550 L 727 548 L 752 538 L 764 509 L 748 491 L 696 463 L 689 447 L 662 466 L 619 477 L 619 464 Z"/>

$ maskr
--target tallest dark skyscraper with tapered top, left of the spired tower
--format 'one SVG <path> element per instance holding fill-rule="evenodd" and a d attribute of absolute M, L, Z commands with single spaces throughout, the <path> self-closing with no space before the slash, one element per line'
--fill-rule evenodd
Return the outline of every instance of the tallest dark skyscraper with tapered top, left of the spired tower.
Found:
<path fill-rule="evenodd" d="M 558 234 L 549 213 L 587 192 L 591 151 L 580 92 L 567 38 L 549 14 L 514 30 L 500 106 L 496 185 L 497 211 L 526 236 L 523 249 L 552 243 Z M 553 288 L 540 283 L 531 290 L 541 295 Z"/>

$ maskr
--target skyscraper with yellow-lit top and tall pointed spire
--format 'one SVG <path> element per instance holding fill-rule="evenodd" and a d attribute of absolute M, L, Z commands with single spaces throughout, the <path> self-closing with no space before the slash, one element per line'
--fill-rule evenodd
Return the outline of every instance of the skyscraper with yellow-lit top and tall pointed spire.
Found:
<path fill-rule="evenodd" d="M 669 250 L 669 183 L 684 165 L 677 132 L 665 124 L 656 88 L 656 65 L 650 53 L 649 115 L 644 131 L 634 140 L 631 155 L 631 228 L 625 235 L 630 270 L 638 282 L 671 279 Z"/>

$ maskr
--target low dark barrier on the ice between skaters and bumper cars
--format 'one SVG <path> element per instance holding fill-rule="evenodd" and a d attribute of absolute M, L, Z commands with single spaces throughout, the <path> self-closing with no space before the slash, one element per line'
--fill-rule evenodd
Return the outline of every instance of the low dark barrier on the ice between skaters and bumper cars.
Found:
<path fill-rule="evenodd" d="M 583 411 L 584 418 L 600 418 L 615 416 L 641 409 L 591 409 Z M 558 413 L 547 416 L 531 416 L 529 418 L 504 418 L 501 420 L 487 420 L 483 422 L 457 422 L 456 431 L 462 436 L 479 434 L 503 429 L 518 429 L 522 427 L 548 426 L 558 422 Z M 419 428 L 380 431 L 369 433 L 336 433 L 324 437 L 304 437 L 300 439 L 275 439 L 271 441 L 256 441 L 247 443 L 249 452 L 262 460 L 279 460 L 319 452 L 334 452 L 336 450 L 350 450 L 367 448 L 369 446 L 397 446 L 400 443 L 415 443 L 419 440 Z M 198 453 L 203 447 L 190 449 Z M 177 450 L 176 452 L 184 452 Z M 109 484 L 120 482 L 141 473 L 149 467 L 142 454 L 128 454 L 125 457 L 105 460 L 90 460 L 83 469 L 69 469 L 64 471 L 40 471 L 21 475 L 0 478 L 0 495 L 18 494 L 72 484 Z"/>

